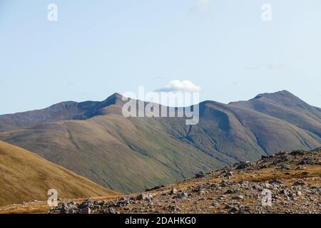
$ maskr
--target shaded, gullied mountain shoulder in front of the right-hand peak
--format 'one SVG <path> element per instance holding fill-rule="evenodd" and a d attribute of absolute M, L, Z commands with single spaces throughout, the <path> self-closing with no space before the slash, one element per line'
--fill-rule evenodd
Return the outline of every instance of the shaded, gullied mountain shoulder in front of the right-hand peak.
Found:
<path fill-rule="evenodd" d="M 163 124 L 175 138 L 229 165 L 240 160 L 258 160 L 260 155 L 280 150 L 310 150 L 321 143 L 319 136 L 284 120 L 213 101 L 200 103 L 198 125 L 186 126 L 177 118 L 165 118 Z"/>

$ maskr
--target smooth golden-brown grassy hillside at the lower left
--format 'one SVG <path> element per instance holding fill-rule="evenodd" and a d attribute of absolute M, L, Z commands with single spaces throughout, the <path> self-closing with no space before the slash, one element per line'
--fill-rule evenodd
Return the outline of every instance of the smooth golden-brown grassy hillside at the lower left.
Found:
<path fill-rule="evenodd" d="M 50 189 L 58 197 L 118 195 L 63 167 L 19 147 L 0 142 L 0 206 L 48 199 Z"/>

